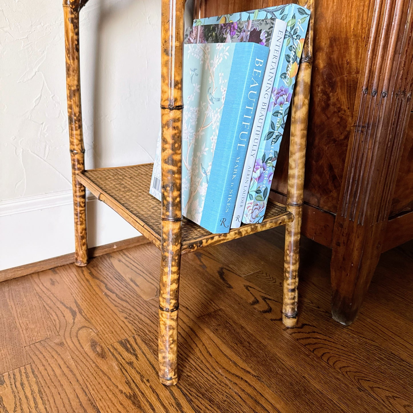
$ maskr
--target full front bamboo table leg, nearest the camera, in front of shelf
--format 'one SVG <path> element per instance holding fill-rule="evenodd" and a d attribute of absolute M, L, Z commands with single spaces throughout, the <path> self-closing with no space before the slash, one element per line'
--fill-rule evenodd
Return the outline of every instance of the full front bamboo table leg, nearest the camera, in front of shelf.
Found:
<path fill-rule="evenodd" d="M 162 1 L 162 259 L 159 285 L 159 378 L 164 385 L 174 385 L 178 382 L 183 13 L 183 0 Z"/>

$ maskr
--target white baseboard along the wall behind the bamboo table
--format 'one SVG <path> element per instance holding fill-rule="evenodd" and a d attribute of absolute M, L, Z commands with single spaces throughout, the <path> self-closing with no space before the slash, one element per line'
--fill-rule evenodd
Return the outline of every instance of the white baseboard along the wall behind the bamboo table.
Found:
<path fill-rule="evenodd" d="M 88 193 L 88 245 L 109 244 L 140 233 Z M 74 252 L 72 192 L 0 202 L 0 271 Z"/>

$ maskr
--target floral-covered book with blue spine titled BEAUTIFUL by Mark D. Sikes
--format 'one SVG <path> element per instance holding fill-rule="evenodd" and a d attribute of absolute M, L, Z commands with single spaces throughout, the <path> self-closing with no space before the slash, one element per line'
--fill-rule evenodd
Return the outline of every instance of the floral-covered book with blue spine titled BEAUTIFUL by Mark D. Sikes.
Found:
<path fill-rule="evenodd" d="M 184 45 L 182 210 L 212 233 L 230 229 L 268 50 L 244 42 Z M 158 199 L 159 143 L 150 188 Z"/>

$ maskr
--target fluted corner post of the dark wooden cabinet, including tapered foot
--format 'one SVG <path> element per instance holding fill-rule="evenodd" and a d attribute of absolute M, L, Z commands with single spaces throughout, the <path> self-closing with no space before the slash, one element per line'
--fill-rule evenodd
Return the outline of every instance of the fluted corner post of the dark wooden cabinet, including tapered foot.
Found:
<path fill-rule="evenodd" d="M 375 1 L 332 242 L 332 316 L 357 317 L 382 251 L 413 90 L 410 1 Z"/>

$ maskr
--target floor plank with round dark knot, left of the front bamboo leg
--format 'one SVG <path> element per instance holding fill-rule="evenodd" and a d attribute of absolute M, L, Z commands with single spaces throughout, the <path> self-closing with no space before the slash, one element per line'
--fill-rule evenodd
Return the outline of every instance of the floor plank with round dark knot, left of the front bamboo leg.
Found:
<path fill-rule="evenodd" d="M 132 394 L 108 353 L 97 329 L 84 317 L 59 271 L 31 275 L 36 291 L 64 339 L 90 394 L 101 413 L 140 412 L 140 400 Z M 119 373 L 119 374 L 118 374 Z"/>

